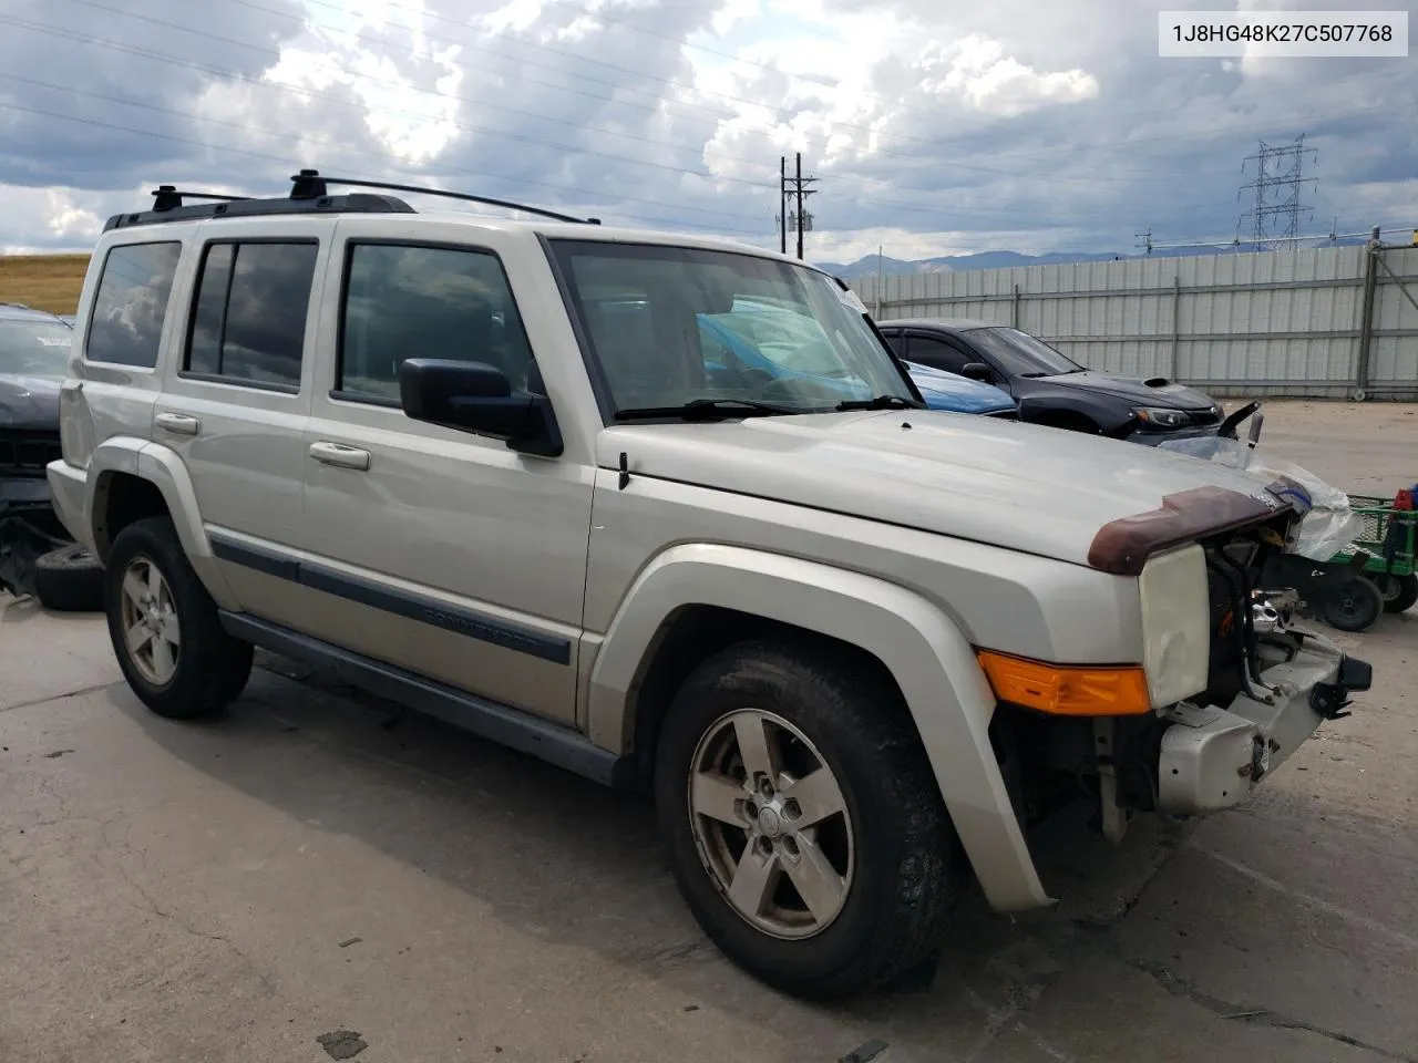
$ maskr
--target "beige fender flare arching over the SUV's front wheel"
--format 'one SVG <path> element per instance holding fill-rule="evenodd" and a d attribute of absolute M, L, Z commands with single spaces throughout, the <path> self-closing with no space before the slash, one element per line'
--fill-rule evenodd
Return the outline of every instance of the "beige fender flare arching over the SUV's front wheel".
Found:
<path fill-rule="evenodd" d="M 883 580 L 780 554 L 685 544 L 631 585 L 591 672 L 593 743 L 630 747 L 630 693 L 666 619 L 715 605 L 817 631 L 873 653 L 905 694 L 936 782 L 986 897 L 997 911 L 1054 904 L 1039 882 L 990 744 L 994 696 L 968 639 L 942 609 Z"/>

